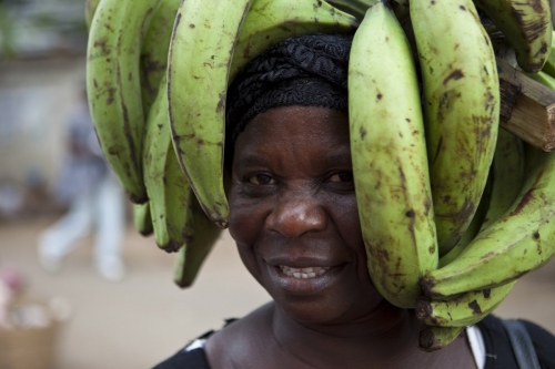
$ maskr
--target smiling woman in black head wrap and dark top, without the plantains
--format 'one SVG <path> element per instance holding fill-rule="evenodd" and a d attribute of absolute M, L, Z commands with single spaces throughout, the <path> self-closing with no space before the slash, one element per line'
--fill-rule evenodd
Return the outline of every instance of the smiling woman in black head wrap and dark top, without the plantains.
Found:
<path fill-rule="evenodd" d="M 351 164 L 351 41 L 335 34 L 285 40 L 230 88 L 230 233 L 273 301 L 157 368 L 517 368 L 498 319 L 424 352 L 414 312 L 389 304 L 373 286 Z M 555 338 L 526 327 L 541 363 L 554 368 L 547 349 Z"/>

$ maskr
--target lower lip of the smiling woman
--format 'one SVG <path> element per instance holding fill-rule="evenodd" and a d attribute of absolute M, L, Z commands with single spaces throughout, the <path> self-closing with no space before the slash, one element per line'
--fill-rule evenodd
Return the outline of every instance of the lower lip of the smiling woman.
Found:
<path fill-rule="evenodd" d="M 344 265 L 327 269 L 324 274 L 312 278 L 290 277 L 279 266 L 268 265 L 270 278 L 279 288 L 293 295 L 313 295 L 332 286 L 343 271 Z"/>

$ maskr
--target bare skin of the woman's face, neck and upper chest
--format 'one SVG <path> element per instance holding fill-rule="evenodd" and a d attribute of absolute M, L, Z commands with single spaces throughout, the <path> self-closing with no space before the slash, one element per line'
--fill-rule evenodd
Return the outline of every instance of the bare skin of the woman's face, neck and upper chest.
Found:
<path fill-rule="evenodd" d="M 282 106 L 238 137 L 230 233 L 273 301 L 213 335 L 211 368 L 475 369 L 466 339 L 427 353 L 414 311 L 389 304 L 367 269 L 347 115 Z M 294 278 L 283 266 L 326 268 Z"/>

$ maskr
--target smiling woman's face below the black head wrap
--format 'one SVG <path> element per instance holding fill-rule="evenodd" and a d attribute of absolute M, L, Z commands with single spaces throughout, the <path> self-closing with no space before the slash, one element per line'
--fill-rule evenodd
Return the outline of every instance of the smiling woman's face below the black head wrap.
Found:
<path fill-rule="evenodd" d="M 274 107 L 239 135 L 230 233 L 249 271 L 299 321 L 363 318 L 382 297 L 362 239 L 347 115 Z"/>

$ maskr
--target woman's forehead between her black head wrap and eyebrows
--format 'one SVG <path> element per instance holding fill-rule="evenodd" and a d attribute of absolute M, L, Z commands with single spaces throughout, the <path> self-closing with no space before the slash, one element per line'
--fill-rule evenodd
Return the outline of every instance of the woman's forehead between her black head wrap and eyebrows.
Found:
<path fill-rule="evenodd" d="M 255 116 L 235 142 L 235 158 L 279 152 L 350 152 L 346 113 L 322 106 L 280 106 Z M 322 153 L 319 153 L 321 155 Z"/>

